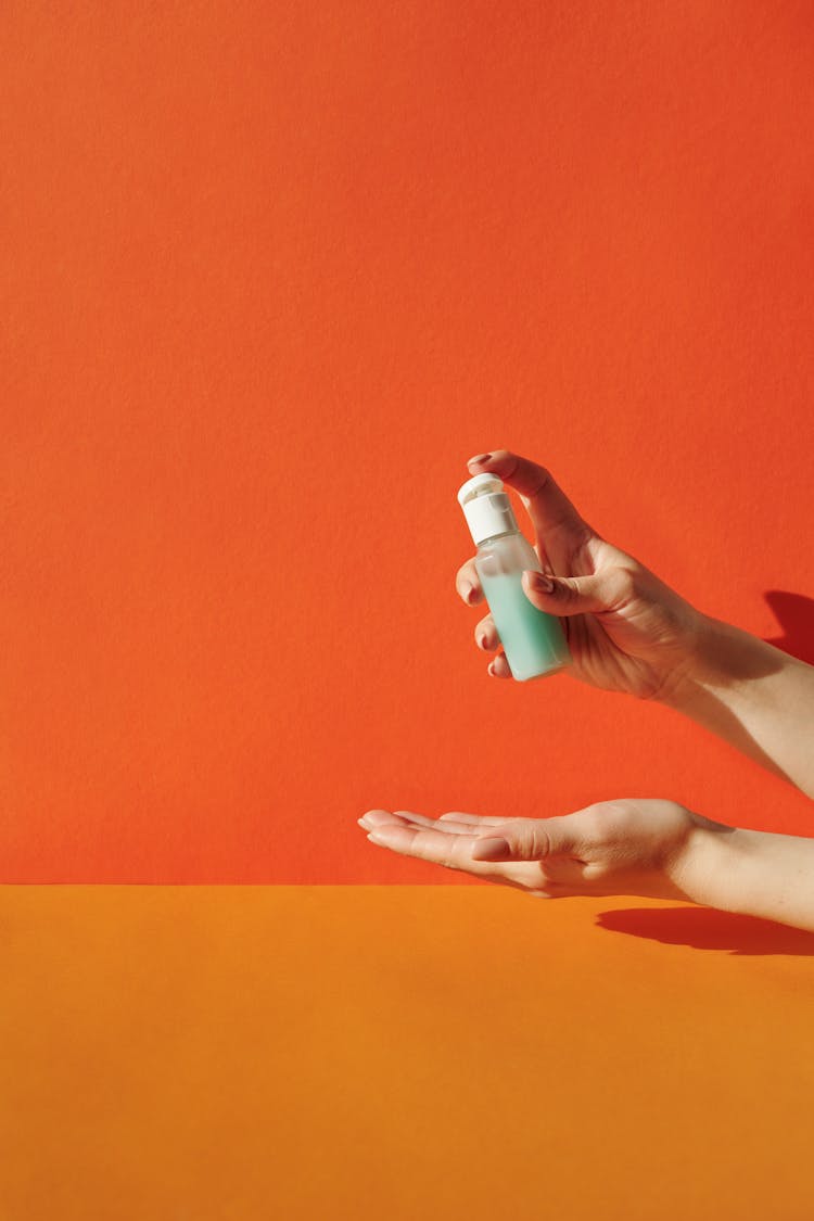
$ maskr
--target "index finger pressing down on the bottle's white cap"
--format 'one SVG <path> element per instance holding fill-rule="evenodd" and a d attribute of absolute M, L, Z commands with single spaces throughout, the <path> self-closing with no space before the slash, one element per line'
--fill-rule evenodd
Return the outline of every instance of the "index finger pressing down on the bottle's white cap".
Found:
<path fill-rule="evenodd" d="M 497 475 L 520 493 L 541 548 L 556 567 L 594 534 L 544 466 L 509 449 L 471 458 L 467 465 L 478 474 Z"/>

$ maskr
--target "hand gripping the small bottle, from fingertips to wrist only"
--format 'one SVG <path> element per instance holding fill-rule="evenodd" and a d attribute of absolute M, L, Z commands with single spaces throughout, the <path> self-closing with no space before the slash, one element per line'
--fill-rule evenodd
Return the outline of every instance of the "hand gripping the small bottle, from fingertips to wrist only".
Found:
<path fill-rule="evenodd" d="M 471 458 L 472 474 L 495 475 L 520 493 L 536 532 L 543 571 L 527 571 L 528 601 L 564 620 L 571 673 L 593 686 L 652 698 L 676 684 L 692 663 L 703 623 L 688 602 L 643 564 L 605 542 L 585 521 L 544 468 L 506 449 Z M 455 578 L 470 606 L 483 601 L 475 559 Z M 481 648 L 500 641 L 491 614 L 475 629 Z M 489 665 L 511 678 L 503 652 Z"/>

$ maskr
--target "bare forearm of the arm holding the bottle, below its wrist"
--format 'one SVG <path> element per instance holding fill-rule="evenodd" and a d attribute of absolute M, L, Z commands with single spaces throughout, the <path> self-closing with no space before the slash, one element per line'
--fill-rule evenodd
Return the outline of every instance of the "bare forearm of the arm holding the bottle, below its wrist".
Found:
<path fill-rule="evenodd" d="M 814 797 L 814 667 L 741 628 L 699 621 L 663 702 Z"/>

